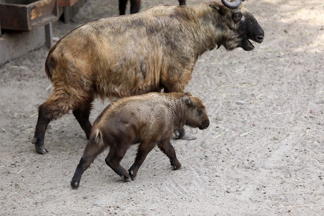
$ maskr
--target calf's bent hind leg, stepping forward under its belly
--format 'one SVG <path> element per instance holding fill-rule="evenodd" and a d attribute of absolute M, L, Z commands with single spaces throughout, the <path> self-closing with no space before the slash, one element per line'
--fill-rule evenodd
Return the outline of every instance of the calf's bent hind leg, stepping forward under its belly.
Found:
<path fill-rule="evenodd" d="M 127 148 L 115 149 L 110 146 L 108 156 L 105 159 L 106 164 L 116 172 L 122 179 L 127 180 L 130 178 L 126 169 L 120 165 L 121 159 L 123 159 Z"/>

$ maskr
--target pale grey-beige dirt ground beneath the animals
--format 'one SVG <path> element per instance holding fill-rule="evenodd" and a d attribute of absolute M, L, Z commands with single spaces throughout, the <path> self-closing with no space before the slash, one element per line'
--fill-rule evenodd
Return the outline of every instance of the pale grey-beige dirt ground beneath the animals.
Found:
<path fill-rule="evenodd" d="M 142 9 L 175 0 L 143 0 Z M 187 5 L 199 3 L 188 0 Z M 52 89 L 42 47 L 0 66 L 1 215 L 322 215 L 324 212 L 324 5 L 320 0 L 248 0 L 265 31 L 255 50 L 222 47 L 201 56 L 186 90 L 203 98 L 211 124 L 172 140 L 182 169 L 152 150 L 125 183 L 107 150 L 70 187 L 87 143 L 70 113 L 50 123 L 39 155 L 31 139 L 37 107 Z M 129 10 L 128 10 L 129 11 Z M 117 15 L 117 1 L 91 0 L 78 24 Z M 91 121 L 109 103 L 94 105 Z M 121 165 L 130 167 L 136 146 Z"/>

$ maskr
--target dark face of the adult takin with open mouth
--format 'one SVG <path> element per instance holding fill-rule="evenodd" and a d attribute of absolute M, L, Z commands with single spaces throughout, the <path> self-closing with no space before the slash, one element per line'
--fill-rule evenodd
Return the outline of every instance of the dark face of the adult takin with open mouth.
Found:
<path fill-rule="evenodd" d="M 226 50 L 242 48 L 251 51 L 254 46 L 250 40 L 261 44 L 264 38 L 264 31 L 254 16 L 241 4 L 237 9 L 228 9 L 224 6 L 219 8 L 219 13 L 224 17 L 222 26 L 226 33 L 221 44 Z M 224 26 L 226 25 L 226 26 Z"/>

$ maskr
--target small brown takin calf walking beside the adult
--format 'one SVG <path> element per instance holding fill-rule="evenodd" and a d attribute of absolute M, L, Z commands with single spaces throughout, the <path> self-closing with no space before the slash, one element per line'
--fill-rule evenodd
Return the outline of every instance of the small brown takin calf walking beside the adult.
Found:
<path fill-rule="evenodd" d="M 175 128 L 188 125 L 206 129 L 209 119 L 203 101 L 191 93 L 148 93 L 119 99 L 106 107 L 94 121 L 90 140 L 76 167 L 71 186 L 76 189 L 84 171 L 109 146 L 105 161 L 122 179 L 135 179 L 146 155 L 157 145 L 174 169 L 181 163 L 170 143 Z M 140 143 L 128 172 L 119 162 L 127 149 Z"/>

